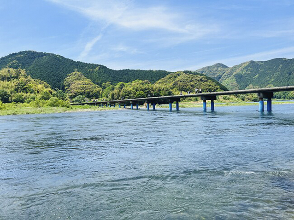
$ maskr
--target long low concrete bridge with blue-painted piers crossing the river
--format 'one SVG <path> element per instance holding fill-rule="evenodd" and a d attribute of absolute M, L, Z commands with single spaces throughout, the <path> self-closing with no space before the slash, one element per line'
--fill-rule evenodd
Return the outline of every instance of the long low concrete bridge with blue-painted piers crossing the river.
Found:
<path fill-rule="evenodd" d="M 249 93 L 257 93 L 259 98 L 259 111 L 264 111 L 264 99 L 267 99 L 267 111 L 271 111 L 271 98 L 273 97 L 274 92 L 279 91 L 293 91 L 294 86 L 288 87 L 274 87 L 274 88 L 256 88 L 256 89 L 244 89 L 244 90 L 235 90 L 235 91 L 221 91 L 221 92 L 206 92 L 206 93 L 196 93 L 196 94 L 187 94 L 187 95 L 170 95 L 170 96 L 158 96 L 158 97 L 146 97 L 146 98 L 137 98 L 137 99 L 121 99 L 121 100 L 109 100 L 109 101 L 98 101 L 98 102 L 85 102 L 85 103 L 73 103 L 71 105 L 98 105 L 98 106 L 114 106 L 116 104 L 123 104 L 123 108 L 126 108 L 126 104 L 131 105 L 131 109 L 136 106 L 136 109 L 139 109 L 139 102 L 147 103 L 147 110 L 149 110 L 149 104 L 152 105 L 153 110 L 155 110 L 155 106 L 159 100 L 166 100 L 169 103 L 170 111 L 172 111 L 172 103 L 176 103 L 176 110 L 179 110 L 179 102 L 181 98 L 189 98 L 189 97 L 200 97 L 203 100 L 203 110 L 207 110 L 206 101 L 211 101 L 211 110 L 214 108 L 214 100 L 217 99 L 218 95 L 236 95 L 236 94 L 249 94 Z"/>

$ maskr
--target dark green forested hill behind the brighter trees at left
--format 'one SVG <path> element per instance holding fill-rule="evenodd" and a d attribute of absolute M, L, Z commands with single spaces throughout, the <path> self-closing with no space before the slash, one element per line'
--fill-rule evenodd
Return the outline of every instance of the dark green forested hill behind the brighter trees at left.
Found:
<path fill-rule="evenodd" d="M 137 79 L 154 83 L 171 73 L 165 70 L 113 70 L 98 64 L 87 64 L 36 51 L 22 51 L 0 58 L 0 69 L 5 67 L 25 69 L 27 74 L 47 82 L 52 88 L 62 88 L 64 79 L 73 71 L 83 73 L 98 85 L 105 82 L 127 83 Z"/>

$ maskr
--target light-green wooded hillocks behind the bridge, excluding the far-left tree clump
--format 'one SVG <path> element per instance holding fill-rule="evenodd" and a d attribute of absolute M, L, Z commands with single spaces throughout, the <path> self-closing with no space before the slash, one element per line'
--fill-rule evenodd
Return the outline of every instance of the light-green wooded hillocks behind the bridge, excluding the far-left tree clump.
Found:
<path fill-rule="evenodd" d="M 135 80 L 116 85 L 106 82 L 99 87 L 82 73 L 75 71 L 68 75 L 64 84 L 66 93 L 73 102 L 83 102 L 85 99 L 118 100 L 185 94 L 194 92 L 195 88 L 201 88 L 202 92 L 227 90 L 217 81 L 192 72 L 171 73 L 153 84 L 148 80 Z"/>

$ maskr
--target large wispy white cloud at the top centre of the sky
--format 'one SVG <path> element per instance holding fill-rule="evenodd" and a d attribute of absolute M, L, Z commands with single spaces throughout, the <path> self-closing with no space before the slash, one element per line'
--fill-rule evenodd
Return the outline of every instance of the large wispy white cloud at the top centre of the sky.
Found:
<path fill-rule="evenodd" d="M 129 0 L 49 1 L 82 13 L 92 21 L 106 22 L 133 30 L 158 28 L 175 33 L 196 34 L 202 32 L 202 28 L 206 26 L 202 23 L 187 22 L 181 14 L 170 11 L 167 7 L 143 8 L 136 6 Z"/>

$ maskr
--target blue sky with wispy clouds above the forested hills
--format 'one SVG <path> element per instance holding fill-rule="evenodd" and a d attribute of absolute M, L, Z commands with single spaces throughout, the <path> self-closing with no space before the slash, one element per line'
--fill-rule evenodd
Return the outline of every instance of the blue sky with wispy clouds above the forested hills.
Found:
<path fill-rule="evenodd" d="M 294 0 L 0 0 L 0 57 L 196 70 L 294 58 Z"/>

